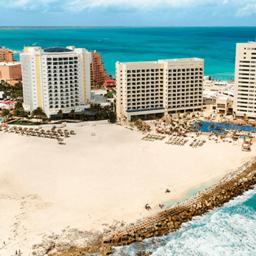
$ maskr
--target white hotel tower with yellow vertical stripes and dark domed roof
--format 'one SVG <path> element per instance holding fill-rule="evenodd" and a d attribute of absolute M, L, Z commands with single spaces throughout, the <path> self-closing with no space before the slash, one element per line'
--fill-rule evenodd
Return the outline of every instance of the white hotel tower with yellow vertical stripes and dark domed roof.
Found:
<path fill-rule="evenodd" d="M 24 47 L 20 61 L 26 111 L 41 107 L 53 117 L 60 109 L 81 111 L 90 100 L 91 53 L 86 49 Z"/>

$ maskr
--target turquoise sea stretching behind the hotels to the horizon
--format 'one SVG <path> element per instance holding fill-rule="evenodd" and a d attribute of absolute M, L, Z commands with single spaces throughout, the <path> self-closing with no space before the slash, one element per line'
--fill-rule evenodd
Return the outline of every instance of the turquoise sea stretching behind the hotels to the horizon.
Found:
<path fill-rule="evenodd" d="M 101 52 L 108 73 L 115 62 L 198 57 L 205 75 L 234 78 L 235 44 L 255 41 L 256 27 L 173 28 L 1 28 L 0 46 L 22 51 L 23 46 L 75 45 Z M 19 55 L 15 55 L 19 60 Z"/>

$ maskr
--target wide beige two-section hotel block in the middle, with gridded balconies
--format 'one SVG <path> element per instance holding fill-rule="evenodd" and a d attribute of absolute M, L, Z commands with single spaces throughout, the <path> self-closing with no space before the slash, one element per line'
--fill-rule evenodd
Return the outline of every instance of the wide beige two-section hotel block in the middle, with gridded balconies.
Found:
<path fill-rule="evenodd" d="M 151 119 L 202 108 L 204 60 L 116 63 L 118 118 Z"/>

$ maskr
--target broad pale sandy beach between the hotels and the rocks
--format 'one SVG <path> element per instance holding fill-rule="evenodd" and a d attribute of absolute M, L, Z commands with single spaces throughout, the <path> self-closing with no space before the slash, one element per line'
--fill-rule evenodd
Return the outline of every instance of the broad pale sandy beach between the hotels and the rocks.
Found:
<path fill-rule="evenodd" d="M 102 231 L 114 220 L 134 222 L 255 155 L 255 146 L 242 152 L 241 146 L 212 140 L 196 149 L 189 142 L 166 145 L 167 138 L 143 141 L 141 133 L 119 125 L 74 130 L 63 146 L 0 132 L 1 256 L 19 249 L 28 255 L 47 230 Z M 153 210 L 146 211 L 145 203 Z"/>

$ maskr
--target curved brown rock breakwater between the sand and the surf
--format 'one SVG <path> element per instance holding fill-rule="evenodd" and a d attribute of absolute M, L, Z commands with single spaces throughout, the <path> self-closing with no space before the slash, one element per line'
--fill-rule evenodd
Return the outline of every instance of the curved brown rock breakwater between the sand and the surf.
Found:
<path fill-rule="evenodd" d="M 256 157 L 234 172 L 225 175 L 218 184 L 196 193 L 186 201 L 172 205 L 154 216 L 103 237 L 101 252 L 103 255 L 109 255 L 112 246 L 129 245 L 145 238 L 174 232 L 181 227 L 182 223 L 242 195 L 245 191 L 253 189 L 255 184 Z"/>

